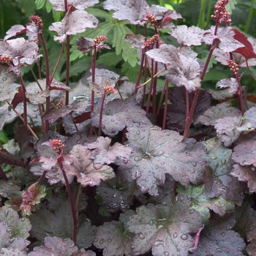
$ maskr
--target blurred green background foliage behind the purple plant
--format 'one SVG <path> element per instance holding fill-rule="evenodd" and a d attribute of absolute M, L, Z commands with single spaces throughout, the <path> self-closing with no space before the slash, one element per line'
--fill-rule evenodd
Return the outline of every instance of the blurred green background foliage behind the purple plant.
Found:
<path fill-rule="evenodd" d="M 102 10 L 101 3 L 93 8 L 89 8 L 88 12 L 95 15 L 99 20 L 98 29 L 87 29 L 85 33 L 71 36 L 71 69 L 70 83 L 76 83 L 90 68 L 89 56 L 84 56 L 83 53 L 77 50 L 75 39 L 80 37 L 95 38 L 98 35 L 108 37 L 108 45 L 112 50 L 102 50 L 99 53 L 97 64 L 105 64 L 108 69 L 117 72 L 120 75 L 127 75 L 129 80 L 135 81 L 138 74 L 138 57 L 135 49 L 129 48 L 129 44 L 124 41 L 124 34 L 135 33 L 134 26 L 130 26 L 128 21 L 118 21 L 112 18 L 112 12 Z M 183 19 L 177 20 L 177 25 L 199 26 L 201 29 L 209 29 L 214 25 L 211 15 L 214 13 L 214 4 L 216 0 L 147 0 L 148 4 L 159 4 L 181 13 Z M 233 28 L 243 31 L 247 37 L 256 38 L 256 3 L 255 0 L 231 0 L 229 11 L 232 12 Z M 55 32 L 49 31 L 48 26 L 51 23 L 61 20 L 63 12 L 52 10 L 52 5 L 48 0 L 0 0 L 0 38 L 4 38 L 5 33 L 11 26 L 15 24 L 26 25 L 29 23 L 30 15 L 40 15 L 44 26 L 45 38 L 47 40 L 50 68 L 56 64 L 61 50 L 61 44 L 53 40 Z M 148 37 L 154 33 L 153 29 L 149 29 Z M 168 31 L 161 32 L 161 39 L 166 43 L 176 44 L 175 40 L 170 37 Z M 208 46 L 202 45 L 195 47 L 198 57 L 203 61 L 208 54 Z M 42 59 L 42 69 L 44 69 L 44 61 Z M 214 59 L 211 61 L 211 69 L 206 75 L 203 82 L 204 88 L 215 88 L 215 84 L 222 78 L 230 77 L 231 73 L 227 67 L 222 67 Z M 43 70 L 42 70 L 43 71 Z M 249 93 L 254 93 L 255 81 L 252 80 L 246 69 L 243 70 L 244 75 L 241 83 L 248 87 Z M 28 82 L 33 80 L 29 74 L 29 68 L 23 69 L 25 80 Z M 256 74 L 256 70 L 252 67 L 252 72 Z M 65 80 L 65 55 L 61 59 L 61 64 L 56 72 L 57 80 Z"/>

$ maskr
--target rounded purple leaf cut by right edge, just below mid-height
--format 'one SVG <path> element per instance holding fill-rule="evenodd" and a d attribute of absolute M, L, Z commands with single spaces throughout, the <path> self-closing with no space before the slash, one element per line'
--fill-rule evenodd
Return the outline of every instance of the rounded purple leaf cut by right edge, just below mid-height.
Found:
<path fill-rule="evenodd" d="M 239 137 L 232 159 L 240 165 L 254 165 L 256 167 L 256 132 L 248 132 Z"/>

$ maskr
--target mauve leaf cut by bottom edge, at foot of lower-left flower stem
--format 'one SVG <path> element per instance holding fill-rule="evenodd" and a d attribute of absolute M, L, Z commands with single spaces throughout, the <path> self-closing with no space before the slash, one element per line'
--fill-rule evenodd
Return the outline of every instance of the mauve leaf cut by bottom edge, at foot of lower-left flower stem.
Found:
<path fill-rule="evenodd" d="M 69 238 L 62 240 L 58 237 L 46 237 L 45 246 L 36 246 L 33 252 L 29 252 L 29 256 L 45 256 L 45 255 L 72 255 L 78 251 L 78 247 Z"/>

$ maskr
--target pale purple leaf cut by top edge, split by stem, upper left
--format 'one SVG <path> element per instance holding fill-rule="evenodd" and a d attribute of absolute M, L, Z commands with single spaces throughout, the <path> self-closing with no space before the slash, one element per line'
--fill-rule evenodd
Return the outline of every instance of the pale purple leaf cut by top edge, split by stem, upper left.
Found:
<path fill-rule="evenodd" d="M 65 4 L 62 0 L 49 0 L 53 4 L 53 9 L 56 11 L 65 11 Z M 98 0 L 67 0 L 67 5 L 78 10 L 85 10 L 98 4 Z"/>

